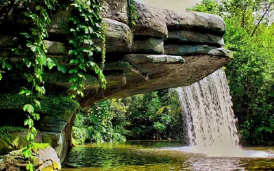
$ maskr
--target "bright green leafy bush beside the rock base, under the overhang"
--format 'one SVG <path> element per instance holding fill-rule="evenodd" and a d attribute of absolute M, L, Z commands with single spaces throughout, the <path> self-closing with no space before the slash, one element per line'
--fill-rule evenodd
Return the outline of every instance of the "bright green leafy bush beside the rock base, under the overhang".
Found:
<path fill-rule="evenodd" d="M 125 141 L 124 135 L 128 132 L 123 129 L 123 126 L 127 123 L 112 122 L 116 109 L 112 110 L 110 107 L 114 106 L 114 103 L 113 100 L 101 101 L 92 108 L 86 109 L 88 116 L 85 116 L 84 112 L 77 114 L 73 127 L 73 138 L 76 144 Z"/>

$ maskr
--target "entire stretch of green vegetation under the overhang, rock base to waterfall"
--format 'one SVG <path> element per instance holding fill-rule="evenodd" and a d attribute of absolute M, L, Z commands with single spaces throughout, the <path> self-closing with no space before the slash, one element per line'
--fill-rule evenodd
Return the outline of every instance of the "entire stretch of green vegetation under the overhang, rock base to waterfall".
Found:
<path fill-rule="evenodd" d="M 182 139 L 179 101 L 175 90 L 161 90 L 96 103 L 77 115 L 76 144 L 127 140 Z M 88 117 L 86 117 L 88 116 Z"/>

